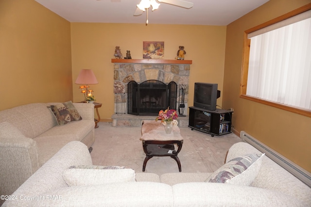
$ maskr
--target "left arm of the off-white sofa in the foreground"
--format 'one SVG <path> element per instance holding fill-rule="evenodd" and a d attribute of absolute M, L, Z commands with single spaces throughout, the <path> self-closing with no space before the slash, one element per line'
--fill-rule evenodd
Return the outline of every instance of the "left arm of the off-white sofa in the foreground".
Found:
<path fill-rule="evenodd" d="M 72 141 L 61 148 L 34 175 L 29 177 L 12 195 L 19 198 L 37 196 L 46 191 L 67 187 L 64 170 L 73 165 L 92 165 L 92 159 L 84 143 Z M 3 206 L 29 206 L 27 200 L 7 200 Z"/>

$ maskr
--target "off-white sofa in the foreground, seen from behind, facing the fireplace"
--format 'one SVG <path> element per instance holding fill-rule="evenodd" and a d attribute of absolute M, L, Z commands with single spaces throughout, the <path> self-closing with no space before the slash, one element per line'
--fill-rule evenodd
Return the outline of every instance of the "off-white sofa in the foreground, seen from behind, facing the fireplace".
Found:
<path fill-rule="evenodd" d="M 229 149 L 226 162 L 248 153 L 259 151 L 248 143 L 236 143 Z M 70 142 L 21 185 L 3 206 L 311 206 L 311 189 L 265 156 L 250 186 L 204 182 L 211 173 L 161 176 L 136 173 L 136 181 L 95 184 L 97 182 L 91 180 L 92 184 L 69 187 L 64 172 L 76 165 L 92 165 L 92 160 L 83 143 Z M 81 176 L 81 180 L 83 178 Z"/>

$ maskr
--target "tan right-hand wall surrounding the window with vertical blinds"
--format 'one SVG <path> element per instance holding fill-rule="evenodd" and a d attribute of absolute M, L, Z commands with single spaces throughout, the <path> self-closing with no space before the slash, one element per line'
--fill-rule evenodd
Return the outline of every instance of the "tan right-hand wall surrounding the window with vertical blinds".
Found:
<path fill-rule="evenodd" d="M 243 32 L 299 8 L 310 0 L 270 0 L 227 26 L 225 107 L 233 107 L 235 130 L 244 130 L 311 172 L 311 118 L 240 98 Z"/>

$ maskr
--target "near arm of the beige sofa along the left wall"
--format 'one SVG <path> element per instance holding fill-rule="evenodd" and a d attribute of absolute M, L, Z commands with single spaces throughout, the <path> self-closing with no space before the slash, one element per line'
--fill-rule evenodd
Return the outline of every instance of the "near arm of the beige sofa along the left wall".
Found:
<path fill-rule="evenodd" d="M 36 142 L 12 124 L 0 123 L 0 195 L 12 194 L 38 168 Z"/>

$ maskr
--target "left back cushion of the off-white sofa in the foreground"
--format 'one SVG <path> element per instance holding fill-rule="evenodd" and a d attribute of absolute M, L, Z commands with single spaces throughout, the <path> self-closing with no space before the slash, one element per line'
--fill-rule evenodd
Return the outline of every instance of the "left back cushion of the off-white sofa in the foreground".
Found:
<path fill-rule="evenodd" d="M 173 207 L 172 187 L 155 182 L 124 182 L 105 185 L 64 187 L 40 192 L 55 199 L 33 199 L 27 206 L 38 207 Z M 37 192 L 35 195 L 38 195 Z M 55 196 L 55 197 L 56 197 Z"/>

